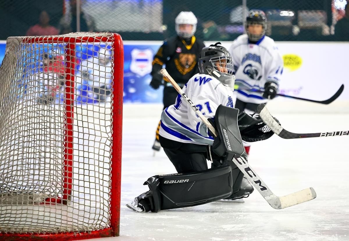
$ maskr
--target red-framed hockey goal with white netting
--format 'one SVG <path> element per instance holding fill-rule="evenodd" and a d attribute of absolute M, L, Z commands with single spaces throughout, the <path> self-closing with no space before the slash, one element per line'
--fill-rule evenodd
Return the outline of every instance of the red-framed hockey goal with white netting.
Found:
<path fill-rule="evenodd" d="M 123 61 L 116 33 L 7 39 L 0 236 L 119 234 Z"/>

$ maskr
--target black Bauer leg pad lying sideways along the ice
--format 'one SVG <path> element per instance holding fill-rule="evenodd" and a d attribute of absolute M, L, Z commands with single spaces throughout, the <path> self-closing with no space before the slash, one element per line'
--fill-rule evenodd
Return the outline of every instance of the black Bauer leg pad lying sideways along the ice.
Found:
<path fill-rule="evenodd" d="M 156 175 L 144 184 L 153 193 L 153 212 L 192 207 L 231 195 L 231 167 L 222 165 L 195 173 Z"/>

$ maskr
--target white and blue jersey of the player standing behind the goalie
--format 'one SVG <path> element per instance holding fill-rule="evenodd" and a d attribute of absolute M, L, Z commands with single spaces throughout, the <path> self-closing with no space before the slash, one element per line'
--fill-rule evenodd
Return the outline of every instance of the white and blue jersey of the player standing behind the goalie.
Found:
<path fill-rule="evenodd" d="M 229 52 L 233 59 L 237 99 L 249 103 L 265 103 L 263 98 L 264 85 L 273 81 L 279 85 L 283 72 L 283 59 L 268 36 L 261 38 L 256 44 L 248 42 L 247 34 L 233 41 Z"/>

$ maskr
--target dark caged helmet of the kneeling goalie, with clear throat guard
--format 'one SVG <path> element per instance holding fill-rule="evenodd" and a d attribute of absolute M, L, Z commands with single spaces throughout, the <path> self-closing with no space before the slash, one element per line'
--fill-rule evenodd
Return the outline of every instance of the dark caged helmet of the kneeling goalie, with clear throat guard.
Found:
<path fill-rule="evenodd" d="M 199 71 L 215 77 L 224 85 L 234 89 L 233 61 L 229 51 L 220 46 L 220 42 L 201 50 L 199 57 Z"/>

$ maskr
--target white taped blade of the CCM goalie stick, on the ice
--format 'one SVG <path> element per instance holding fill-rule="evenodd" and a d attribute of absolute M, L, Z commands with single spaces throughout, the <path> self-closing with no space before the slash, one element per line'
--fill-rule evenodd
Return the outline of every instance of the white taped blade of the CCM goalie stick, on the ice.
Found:
<path fill-rule="evenodd" d="M 286 196 L 280 197 L 280 207 L 273 207 L 276 209 L 287 208 L 299 203 L 307 202 L 316 197 L 314 188 L 306 188 L 302 191 L 298 191 Z"/>

